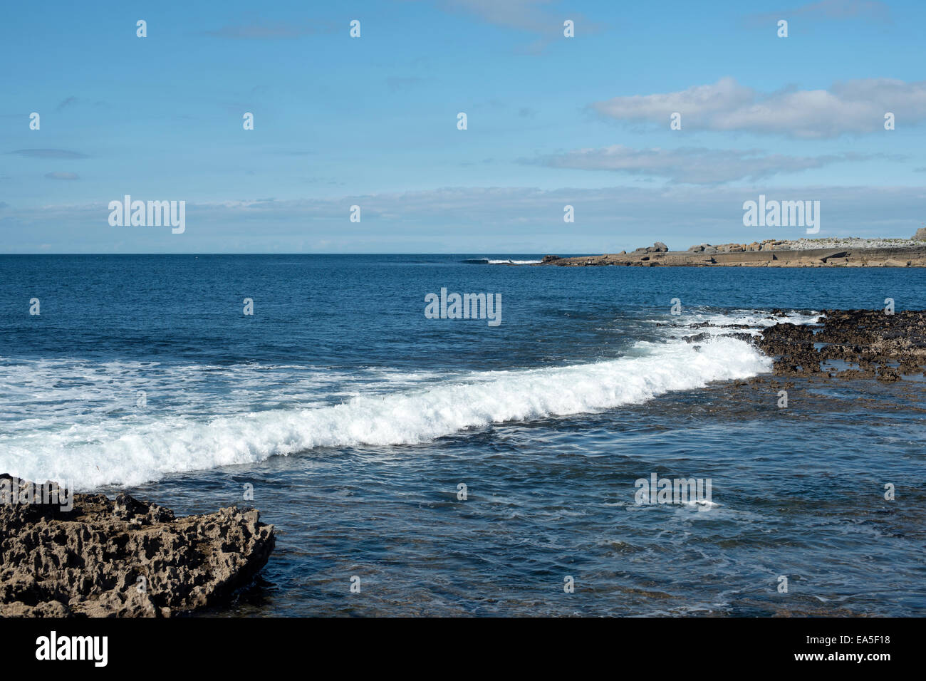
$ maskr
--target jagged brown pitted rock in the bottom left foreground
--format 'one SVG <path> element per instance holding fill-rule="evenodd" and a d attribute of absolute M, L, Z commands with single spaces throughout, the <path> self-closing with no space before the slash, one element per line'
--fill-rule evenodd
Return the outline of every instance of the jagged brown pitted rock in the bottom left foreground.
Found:
<path fill-rule="evenodd" d="M 228 599 L 273 550 L 257 511 L 175 518 L 127 494 L 75 494 L 67 509 L 49 489 L 0 475 L 0 616 L 188 612 Z"/>

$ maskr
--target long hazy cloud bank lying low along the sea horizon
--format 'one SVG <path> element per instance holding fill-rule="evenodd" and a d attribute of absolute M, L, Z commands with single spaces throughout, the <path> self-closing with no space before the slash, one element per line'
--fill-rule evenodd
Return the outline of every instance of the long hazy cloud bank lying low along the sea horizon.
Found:
<path fill-rule="evenodd" d="M 187 204 L 187 229 L 114 228 L 106 203 L 6 208 L 2 252 L 601 253 L 803 236 L 803 228 L 745 228 L 743 202 L 819 200 L 820 236 L 904 237 L 922 222 L 926 187 L 690 186 L 446 187 L 330 200 L 242 200 Z M 351 205 L 363 221 L 351 223 Z M 575 207 L 564 225 L 563 206 Z M 569 229 L 565 229 L 565 227 Z M 75 234 L 80 234 L 75 238 Z"/>

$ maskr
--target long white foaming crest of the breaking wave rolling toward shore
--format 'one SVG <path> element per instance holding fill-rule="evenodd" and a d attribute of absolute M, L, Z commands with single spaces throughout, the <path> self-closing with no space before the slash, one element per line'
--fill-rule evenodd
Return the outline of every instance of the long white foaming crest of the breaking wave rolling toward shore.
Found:
<path fill-rule="evenodd" d="M 766 372 L 771 361 L 745 342 L 716 338 L 638 343 L 625 357 L 591 364 L 447 376 L 418 387 L 365 393 L 342 404 L 229 413 L 130 413 L 119 418 L 31 423 L 0 434 L 0 472 L 81 489 L 137 485 L 167 473 L 249 463 L 319 447 L 414 445 L 481 428 L 621 405 L 674 390 Z M 411 376 L 402 385 L 415 385 Z M 272 388 L 268 388 L 272 392 Z M 268 399 L 273 395 L 265 396 Z M 255 401 L 250 396 L 245 404 Z"/>

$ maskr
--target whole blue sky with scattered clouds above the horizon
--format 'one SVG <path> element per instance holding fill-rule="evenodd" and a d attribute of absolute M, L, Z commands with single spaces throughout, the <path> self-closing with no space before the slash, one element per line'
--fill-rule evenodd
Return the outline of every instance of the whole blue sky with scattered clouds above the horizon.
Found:
<path fill-rule="evenodd" d="M 807 235 L 745 226 L 758 195 L 819 200 L 815 237 L 926 225 L 921 0 L 4 15 L 0 253 L 562 255 Z M 124 195 L 184 201 L 184 231 L 111 225 Z"/>

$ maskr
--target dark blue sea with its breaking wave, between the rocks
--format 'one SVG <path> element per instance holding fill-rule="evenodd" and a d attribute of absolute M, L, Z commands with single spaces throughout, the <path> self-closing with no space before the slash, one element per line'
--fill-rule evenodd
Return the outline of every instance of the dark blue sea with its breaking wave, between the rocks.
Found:
<path fill-rule="evenodd" d="M 0 256 L 0 473 L 257 507 L 277 548 L 216 614 L 926 613 L 926 384 L 782 409 L 723 326 L 923 309 L 926 271 L 507 259 Z M 501 323 L 426 318 L 442 288 Z M 638 505 L 653 473 L 712 505 Z"/>

